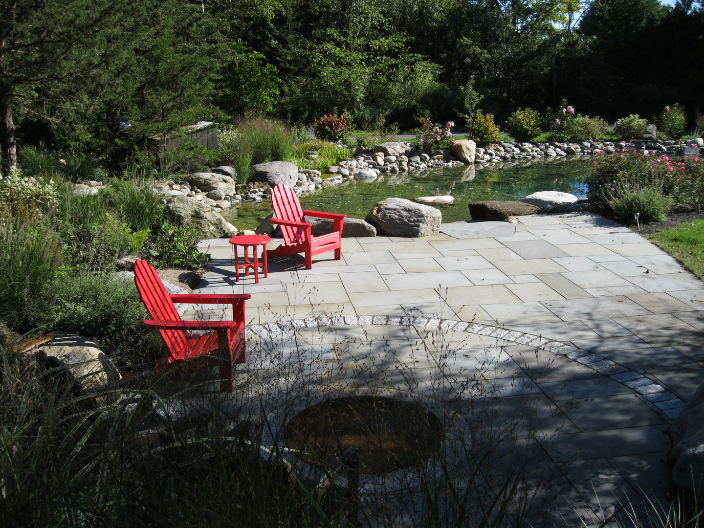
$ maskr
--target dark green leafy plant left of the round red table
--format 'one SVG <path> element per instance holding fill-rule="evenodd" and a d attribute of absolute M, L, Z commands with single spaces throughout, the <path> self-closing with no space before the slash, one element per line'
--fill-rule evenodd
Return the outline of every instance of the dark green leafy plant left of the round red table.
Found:
<path fill-rule="evenodd" d="M 188 227 L 164 224 L 144 244 L 142 256 L 154 268 L 204 268 L 210 255 L 201 253 L 196 244 L 198 234 Z"/>

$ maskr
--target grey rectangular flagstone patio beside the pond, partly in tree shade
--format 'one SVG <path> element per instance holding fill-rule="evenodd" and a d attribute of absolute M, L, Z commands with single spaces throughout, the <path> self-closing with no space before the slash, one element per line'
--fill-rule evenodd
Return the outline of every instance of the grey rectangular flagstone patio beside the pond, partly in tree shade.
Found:
<path fill-rule="evenodd" d="M 542 433 L 534 479 L 562 492 L 536 506 L 548 524 L 598 522 L 626 501 L 645 515 L 672 494 L 665 433 L 704 379 L 704 283 L 597 215 L 519 222 L 510 237 L 343 239 L 344 260 L 272 260 L 260 284 L 234 281 L 227 240 L 203 241 L 213 260 L 196 291 L 252 294 L 244 372 L 287 361 L 320 390 L 360 376 L 449 387 L 488 402 L 474 441 L 509 422 L 514 447 Z"/>

